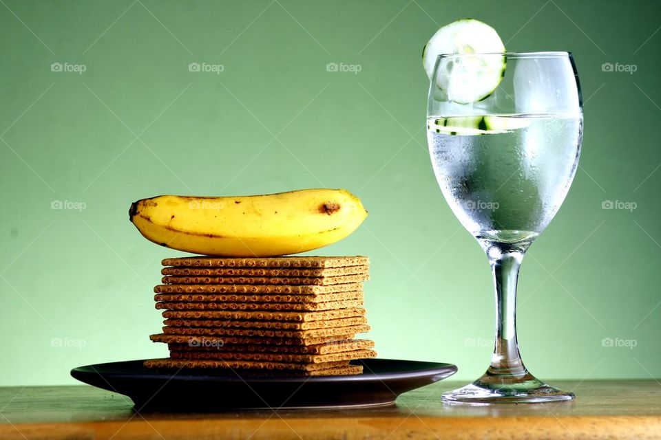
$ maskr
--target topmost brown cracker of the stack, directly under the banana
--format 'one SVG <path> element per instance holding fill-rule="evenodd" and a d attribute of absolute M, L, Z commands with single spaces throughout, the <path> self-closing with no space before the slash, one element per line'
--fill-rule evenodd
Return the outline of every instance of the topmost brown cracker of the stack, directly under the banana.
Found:
<path fill-rule="evenodd" d="M 214 258 L 211 256 L 188 256 L 165 259 L 164 266 L 184 267 L 345 267 L 366 266 L 366 256 L 279 256 L 275 258 Z"/>

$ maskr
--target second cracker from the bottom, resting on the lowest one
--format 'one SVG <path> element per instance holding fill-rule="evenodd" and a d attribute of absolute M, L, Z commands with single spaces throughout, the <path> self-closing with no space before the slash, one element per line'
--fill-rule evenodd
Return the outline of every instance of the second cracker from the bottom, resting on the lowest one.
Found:
<path fill-rule="evenodd" d="M 252 360 L 262 362 L 293 362 L 296 364 L 322 364 L 342 360 L 374 358 L 374 350 L 352 350 L 325 355 L 291 353 L 232 353 L 228 351 L 170 351 L 171 359 Z"/>

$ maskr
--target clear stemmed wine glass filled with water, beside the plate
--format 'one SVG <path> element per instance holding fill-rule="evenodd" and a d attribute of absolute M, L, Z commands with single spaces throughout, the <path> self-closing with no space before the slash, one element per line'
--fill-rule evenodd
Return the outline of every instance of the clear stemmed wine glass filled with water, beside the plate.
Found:
<path fill-rule="evenodd" d="M 493 72 L 502 79 L 494 81 Z M 496 291 L 491 364 L 443 401 L 573 399 L 523 365 L 515 307 L 521 259 L 560 208 L 578 166 L 583 107 L 574 58 L 569 52 L 439 55 L 427 115 L 437 181 L 486 252 Z"/>

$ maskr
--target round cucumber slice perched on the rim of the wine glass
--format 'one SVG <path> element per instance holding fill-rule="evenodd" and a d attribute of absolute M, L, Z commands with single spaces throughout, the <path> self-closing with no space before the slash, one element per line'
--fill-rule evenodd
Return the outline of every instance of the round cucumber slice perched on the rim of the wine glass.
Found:
<path fill-rule="evenodd" d="M 464 58 L 443 58 L 437 86 L 459 104 L 470 104 L 490 96 L 505 74 L 505 45 L 490 25 L 463 19 L 443 26 L 425 45 L 422 63 L 432 79 L 440 54 L 476 54 Z M 479 54 L 494 54 L 481 56 Z"/>

